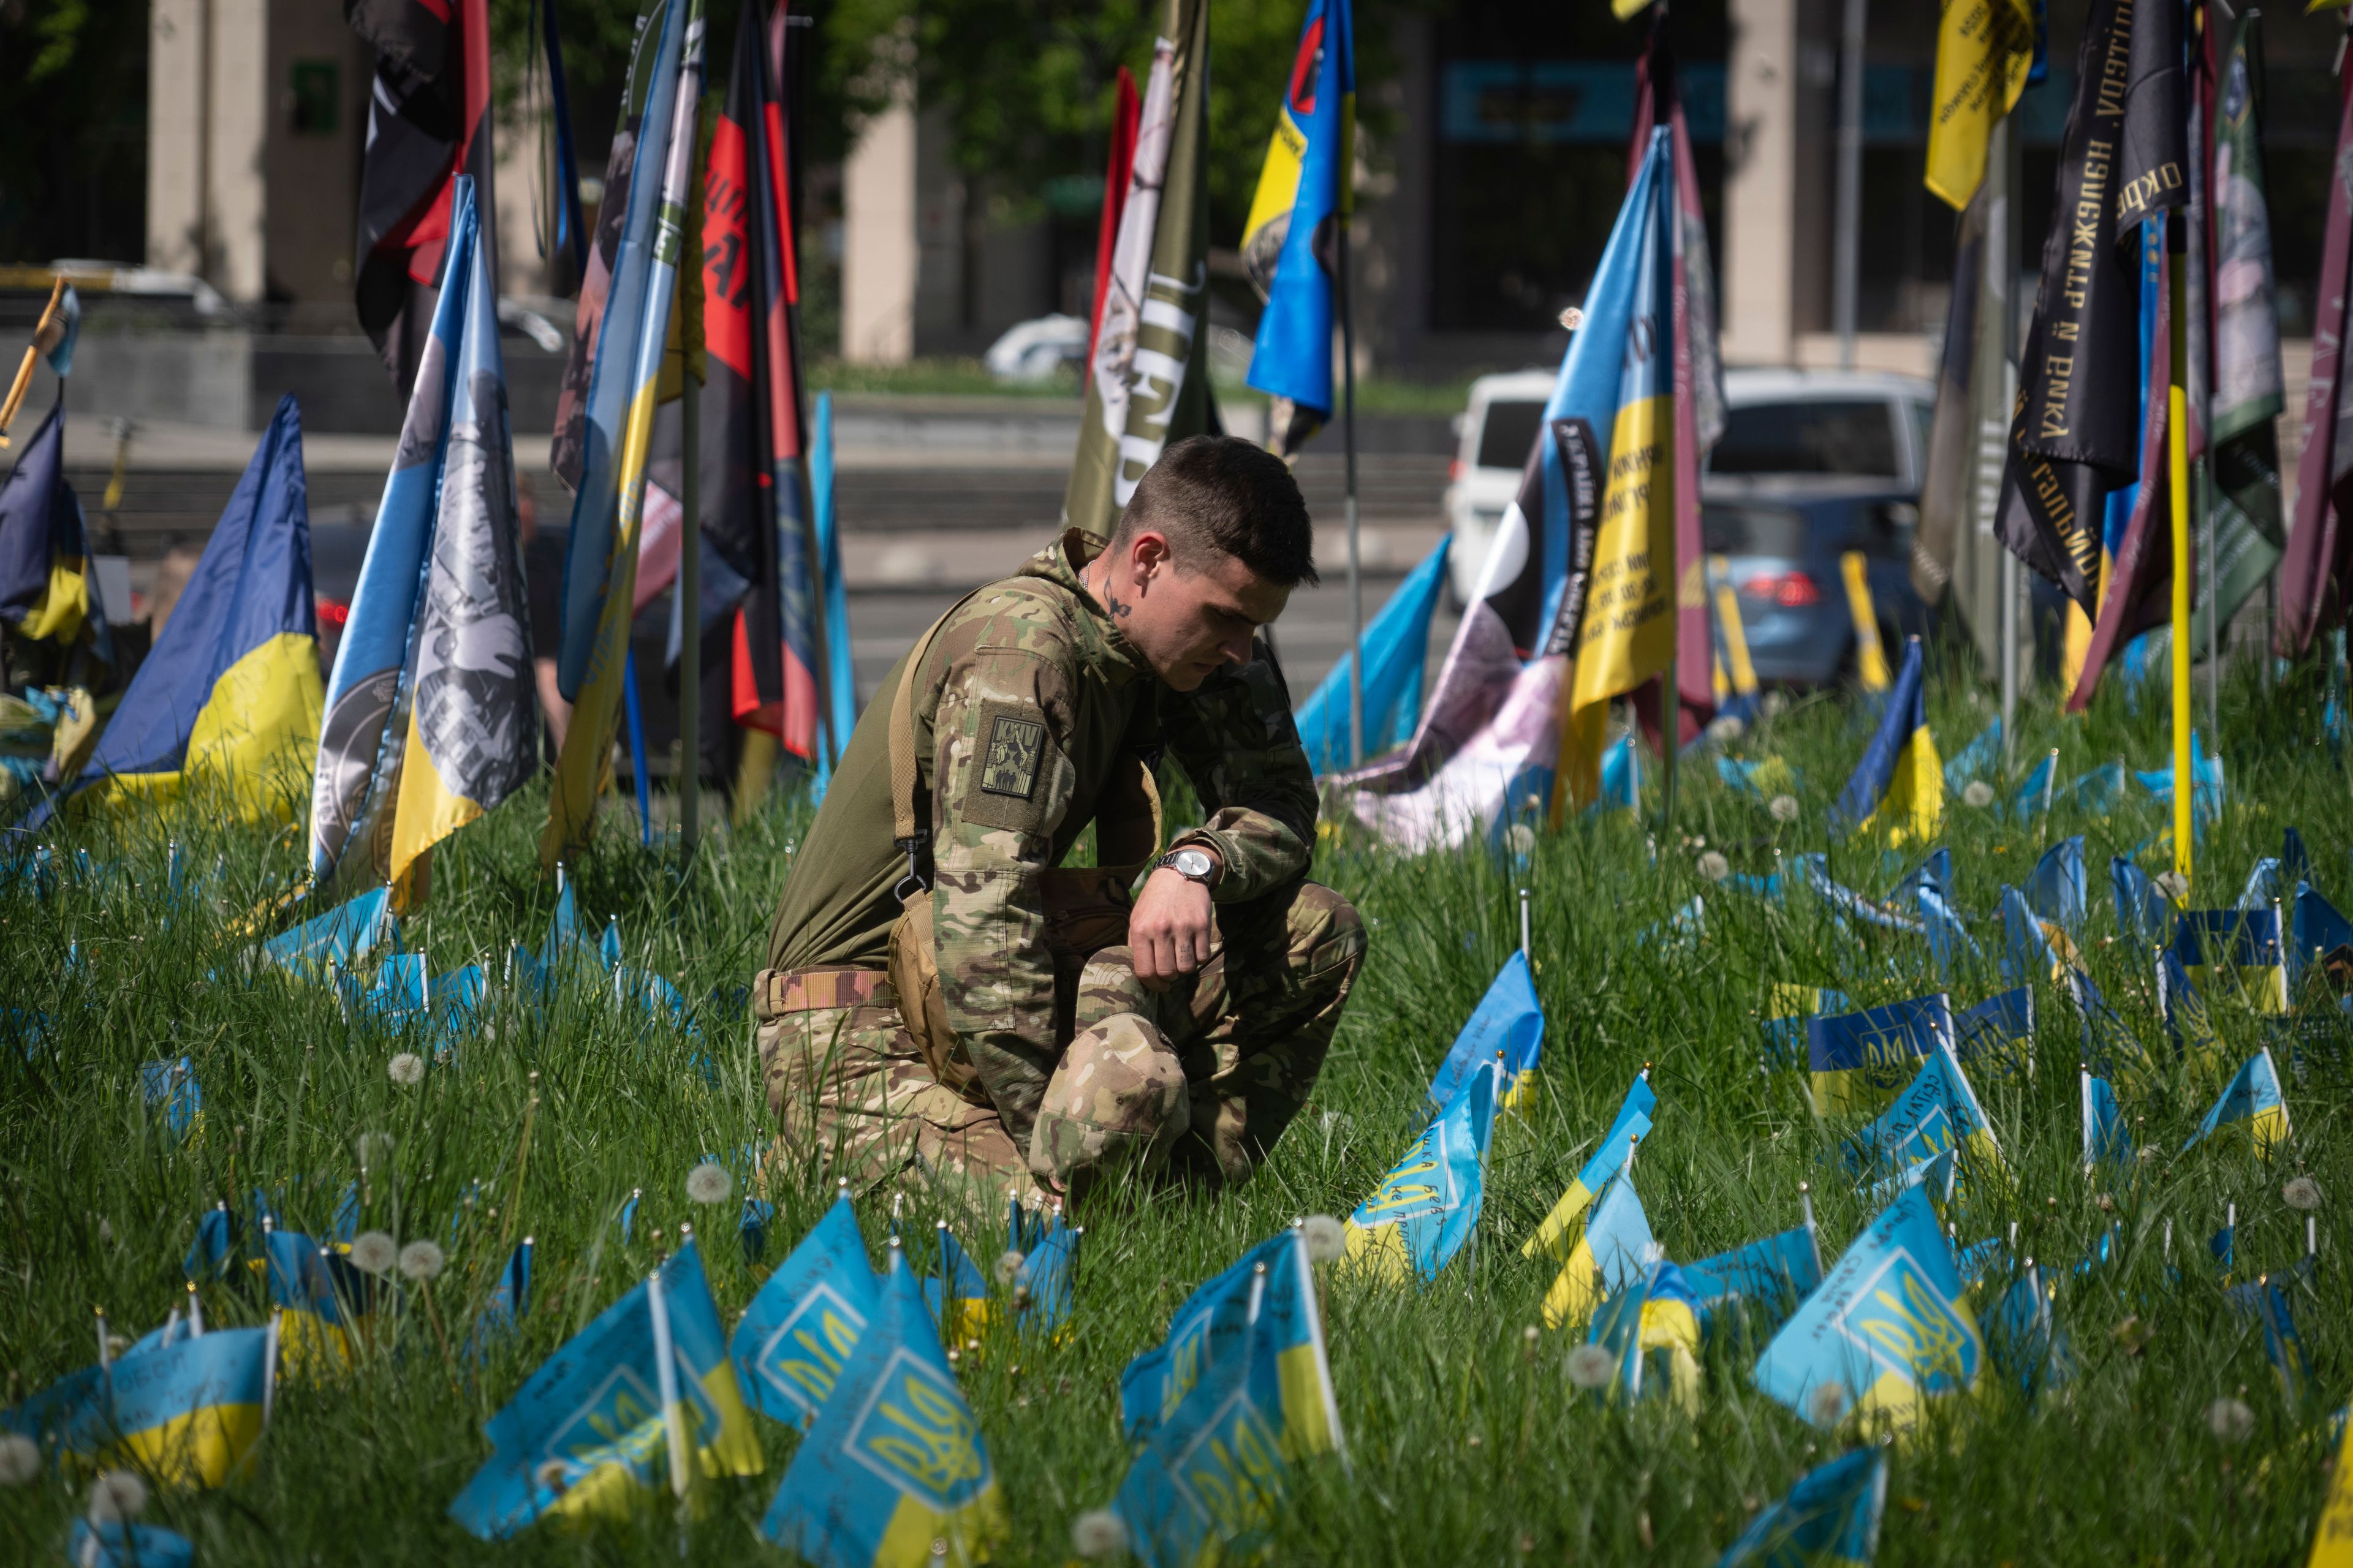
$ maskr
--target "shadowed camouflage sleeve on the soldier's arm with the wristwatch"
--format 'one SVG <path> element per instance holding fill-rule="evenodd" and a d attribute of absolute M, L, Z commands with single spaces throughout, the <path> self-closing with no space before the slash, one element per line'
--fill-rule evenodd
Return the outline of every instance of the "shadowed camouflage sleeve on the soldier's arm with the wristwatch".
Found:
<path fill-rule="evenodd" d="M 1257 898 L 1308 867 L 1315 849 L 1315 769 L 1299 745 L 1292 693 L 1264 642 L 1240 670 L 1198 691 L 1167 693 L 1160 724 L 1169 752 L 1200 792 L 1209 820 L 1179 835 L 1226 863 L 1219 903 Z"/>

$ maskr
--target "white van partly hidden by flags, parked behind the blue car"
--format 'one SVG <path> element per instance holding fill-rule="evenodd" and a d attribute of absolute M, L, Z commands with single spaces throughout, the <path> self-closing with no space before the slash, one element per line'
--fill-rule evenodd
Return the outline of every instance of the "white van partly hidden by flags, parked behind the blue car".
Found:
<path fill-rule="evenodd" d="M 1480 376 L 1454 416 L 1447 470 L 1447 578 L 1468 604 L 1487 564 L 1504 508 L 1520 494 L 1520 468 L 1553 395 L 1548 369 Z M 1727 369 L 1725 435 L 1708 454 L 1706 489 L 1744 489 L 1751 477 L 1880 480 L 1920 491 L 1937 388 L 1880 371 Z"/>

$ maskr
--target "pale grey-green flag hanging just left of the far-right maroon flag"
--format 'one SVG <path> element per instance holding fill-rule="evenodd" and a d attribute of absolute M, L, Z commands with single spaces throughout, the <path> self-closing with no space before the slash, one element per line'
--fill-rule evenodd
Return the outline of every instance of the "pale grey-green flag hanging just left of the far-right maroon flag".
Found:
<path fill-rule="evenodd" d="M 2209 24 L 2212 26 L 2212 24 Z M 2254 68 L 2264 19 L 2238 19 L 2214 78 L 2214 381 L 2207 463 L 2214 470 L 2214 571 L 2198 581 L 2191 644 L 2207 621 L 2238 614 L 2280 564 L 2280 310 L 2271 273 L 2271 202 L 2264 195 L 2264 101 Z"/>

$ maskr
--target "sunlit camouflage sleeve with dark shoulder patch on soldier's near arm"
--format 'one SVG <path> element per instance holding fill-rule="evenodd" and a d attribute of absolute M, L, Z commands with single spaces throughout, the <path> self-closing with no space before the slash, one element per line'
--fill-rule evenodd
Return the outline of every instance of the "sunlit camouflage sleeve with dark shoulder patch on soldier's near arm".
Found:
<path fill-rule="evenodd" d="M 932 719 L 932 933 L 939 994 L 972 1067 L 1028 1147 L 1054 1072 L 1042 882 L 1071 809 L 1071 654 L 1035 621 L 941 630 Z"/>

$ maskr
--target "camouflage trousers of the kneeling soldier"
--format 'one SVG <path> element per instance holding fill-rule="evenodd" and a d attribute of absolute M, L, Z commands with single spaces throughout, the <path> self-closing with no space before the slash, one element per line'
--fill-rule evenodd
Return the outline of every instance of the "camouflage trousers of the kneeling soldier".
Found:
<path fill-rule="evenodd" d="M 1122 1175 L 1238 1185 L 1315 1086 L 1362 959 L 1355 910 L 1313 882 L 1217 905 L 1209 961 L 1162 992 L 1125 945 L 1087 954 L 1056 999 L 1068 1034 L 1026 1140 L 979 1084 L 932 1074 L 880 971 L 762 971 L 769 1171 L 913 1178 L 974 1204 Z"/>

